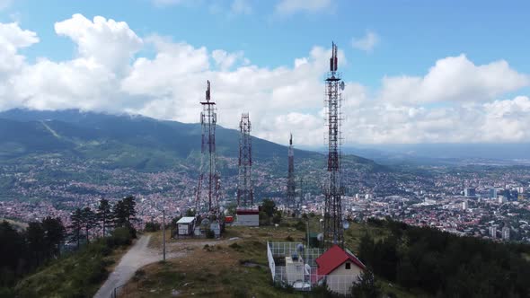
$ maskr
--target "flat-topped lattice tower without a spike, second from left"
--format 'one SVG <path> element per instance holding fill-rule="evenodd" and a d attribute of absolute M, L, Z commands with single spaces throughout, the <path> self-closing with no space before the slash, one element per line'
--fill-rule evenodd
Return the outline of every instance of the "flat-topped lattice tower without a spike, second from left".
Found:
<path fill-rule="evenodd" d="M 252 138 L 251 119 L 248 113 L 241 115 L 239 122 L 239 176 L 237 184 L 237 206 L 252 207 L 254 194 L 252 190 Z"/>

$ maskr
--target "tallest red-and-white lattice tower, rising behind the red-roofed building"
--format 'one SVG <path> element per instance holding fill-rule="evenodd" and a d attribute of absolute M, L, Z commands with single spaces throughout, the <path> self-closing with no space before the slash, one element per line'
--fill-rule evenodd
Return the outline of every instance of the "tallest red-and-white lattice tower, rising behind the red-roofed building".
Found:
<path fill-rule="evenodd" d="M 340 197 L 343 189 L 340 183 L 340 105 L 342 95 L 340 89 L 344 84 L 337 73 L 337 46 L 332 43 L 330 73 L 326 78 L 326 126 L 328 127 L 328 178 L 325 187 L 324 207 L 324 243 L 344 246 L 342 210 Z"/>

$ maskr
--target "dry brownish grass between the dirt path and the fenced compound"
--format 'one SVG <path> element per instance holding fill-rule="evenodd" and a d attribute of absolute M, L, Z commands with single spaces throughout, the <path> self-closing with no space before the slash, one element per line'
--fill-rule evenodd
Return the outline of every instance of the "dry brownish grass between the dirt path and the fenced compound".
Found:
<path fill-rule="evenodd" d="M 179 297 L 296 297 L 270 285 L 264 250 L 264 242 L 243 239 L 196 247 L 185 258 L 142 268 L 120 296 L 168 297 L 178 291 Z"/>

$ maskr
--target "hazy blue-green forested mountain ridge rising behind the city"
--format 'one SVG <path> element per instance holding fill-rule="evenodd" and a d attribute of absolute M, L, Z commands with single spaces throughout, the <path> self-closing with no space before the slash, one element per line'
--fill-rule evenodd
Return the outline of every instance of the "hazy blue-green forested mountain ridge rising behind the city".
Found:
<path fill-rule="evenodd" d="M 80 110 L 6 110 L 0 112 L 0 161 L 34 154 L 61 153 L 102 159 L 109 167 L 159 171 L 178 168 L 200 152 L 201 127 L 177 121 Z M 216 127 L 216 152 L 237 158 L 239 131 Z M 323 161 L 322 153 L 295 150 L 296 159 Z M 287 159 L 287 147 L 252 136 L 255 161 Z M 372 164 L 349 156 L 349 160 Z"/>

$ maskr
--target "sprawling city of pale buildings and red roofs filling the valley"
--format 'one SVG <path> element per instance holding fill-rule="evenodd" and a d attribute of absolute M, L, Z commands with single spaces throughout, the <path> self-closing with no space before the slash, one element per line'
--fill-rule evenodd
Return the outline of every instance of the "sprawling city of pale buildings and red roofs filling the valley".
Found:
<path fill-rule="evenodd" d="M 225 171 L 236 168 L 234 158 L 222 158 Z M 273 199 L 280 208 L 285 200 L 287 172 L 273 171 L 287 160 L 254 164 L 252 180 L 256 197 Z M 445 165 L 378 166 L 345 158 L 344 215 L 356 221 L 390 217 L 412 225 L 430 226 L 459 235 L 495 241 L 530 241 L 530 168 L 525 166 Z M 324 196 L 318 184 L 320 164 L 296 160 L 296 197 L 306 214 L 322 214 Z M 95 208 L 101 198 L 110 202 L 133 195 L 137 198 L 138 225 L 162 221 L 167 215 L 183 215 L 194 206 L 197 177 L 192 162 L 181 171 L 104 169 L 97 162 L 75 162 L 60 157 L 27 160 L 27 164 L 3 164 L 0 168 L 4 194 L 0 217 L 22 222 L 58 216 L 69 223 L 78 206 Z M 279 167 L 281 168 L 281 166 Z M 287 169 L 286 169 L 287 170 Z M 45 178 L 47 177 L 48 178 Z M 50 177 L 54 177 L 51 179 Z M 228 211 L 234 206 L 236 175 L 225 175 L 220 202 Z M 303 178 L 300 180 L 299 178 Z"/>

